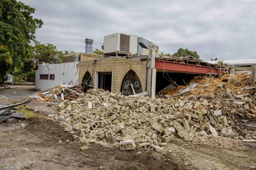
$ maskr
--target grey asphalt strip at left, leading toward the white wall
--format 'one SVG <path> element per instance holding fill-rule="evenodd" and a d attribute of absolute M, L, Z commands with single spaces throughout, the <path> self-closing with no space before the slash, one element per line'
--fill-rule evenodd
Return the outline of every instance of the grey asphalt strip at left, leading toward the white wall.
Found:
<path fill-rule="evenodd" d="M 37 91 L 35 90 L 35 86 L 30 85 L 17 85 L 14 87 L 15 88 L 0 89 L 0 98 L 7 97 L 12 100 L 24 99 Z"/>

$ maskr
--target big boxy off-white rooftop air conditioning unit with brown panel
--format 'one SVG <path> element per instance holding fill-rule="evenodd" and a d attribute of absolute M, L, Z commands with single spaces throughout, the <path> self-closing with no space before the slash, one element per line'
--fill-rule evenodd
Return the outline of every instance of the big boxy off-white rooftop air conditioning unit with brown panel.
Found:
<path fill-rule="evenodd" d="M 130 53 L 137 54 L 138 37 L 115 33 L 104 37 L 104 54 L 109 53 Z"/>

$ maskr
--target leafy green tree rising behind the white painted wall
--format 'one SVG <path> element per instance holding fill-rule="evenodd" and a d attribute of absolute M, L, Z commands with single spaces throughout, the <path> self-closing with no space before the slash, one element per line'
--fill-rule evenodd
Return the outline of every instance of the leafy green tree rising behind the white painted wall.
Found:
<path fill-rule="evenodd" d="M 35 46 L 33 47 L 33 57 L 36 64 L 39 62 L 50 64 L 61 63 L 63 51 L 58 51 L 56 46 L 53 44 L 47 43 L 45 45 L 35 41 Z"/>

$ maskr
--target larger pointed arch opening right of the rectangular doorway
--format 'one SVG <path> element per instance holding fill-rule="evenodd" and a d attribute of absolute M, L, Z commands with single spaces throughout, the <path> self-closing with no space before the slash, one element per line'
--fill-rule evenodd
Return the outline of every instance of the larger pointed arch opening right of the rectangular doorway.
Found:
<path fill-rule="evenodd" d="M 122 80 L 121 92 L 123 95 L 133 95 L 131 84 L 134 86 L 136 94 L 142 92 L 141 81 L 133 70 L 128 71 Z"/>

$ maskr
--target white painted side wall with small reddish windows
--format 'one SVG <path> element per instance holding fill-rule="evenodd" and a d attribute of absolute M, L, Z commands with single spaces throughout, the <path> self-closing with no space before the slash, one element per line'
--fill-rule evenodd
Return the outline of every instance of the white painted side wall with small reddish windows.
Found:
<path fill-rule="evenodd" d="M 76 68 L 78 62 L 66 62 L 60 64 L 39 64 L 35 71 L 35 89 L 46 90 L 49 88 L 48 80 L 41 80 L 40 74 L 48 75 L 48 67 L 50 75 L 54 74 L 54 80 L 50 80 L 50 88 L 58 86 L 59 84 L 78 84 L 79 68 Z"/>

